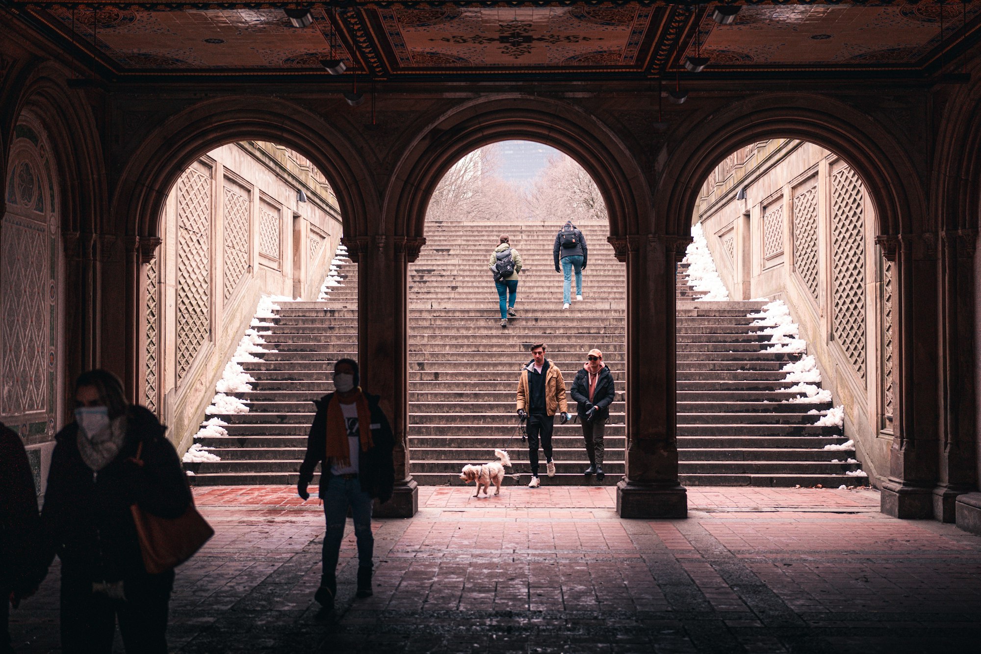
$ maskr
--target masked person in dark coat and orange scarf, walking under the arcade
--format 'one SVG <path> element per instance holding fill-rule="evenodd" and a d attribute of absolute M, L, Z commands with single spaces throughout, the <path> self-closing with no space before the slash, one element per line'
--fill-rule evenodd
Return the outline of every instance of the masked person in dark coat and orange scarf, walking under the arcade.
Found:
<path fill-rule="evenodd" d="M 324 569 L 314 595 L 325 611 L 334 609 L 337 560 L 344 523 L 350 508 L 358 547 L 358 597 L 372 595 L 375 538 L 371 532 L 372 503 L 391 498 L 395 465 L 394 436 L 379 396 L 361 390 L 358 364 L 350 358 L 334 364 L 334 393 L 314 401 L 317 414 L 310 427 L 306 456 L 300 464 L 297 493 L 307 500 L 307 486 L 322 463 L 320 498 L 324 501 Z"/>

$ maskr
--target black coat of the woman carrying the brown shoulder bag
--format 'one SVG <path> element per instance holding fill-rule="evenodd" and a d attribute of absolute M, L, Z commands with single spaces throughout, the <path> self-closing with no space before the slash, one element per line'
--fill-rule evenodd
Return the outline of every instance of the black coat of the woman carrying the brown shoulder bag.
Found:
<path fill-rule="evenodd" d="M 116 459 L 97 473 L 78 452 L 78 424 L 55 436 L 41 522 L 50 562 L 62 574 L 119 581 L 146 574 L 129 507 L 161 518 L 180 518 L 191 502 L 187 477 L 165 427 L 149 410 L 132 406 L 127 438 Z M 143 444 L 140 459 L 130 461 Z"/>

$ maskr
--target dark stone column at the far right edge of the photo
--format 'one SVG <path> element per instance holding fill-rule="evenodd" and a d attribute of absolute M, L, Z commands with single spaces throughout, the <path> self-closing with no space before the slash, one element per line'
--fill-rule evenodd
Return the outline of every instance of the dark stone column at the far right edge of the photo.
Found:
<path fill-rule="evenodd" d="M 977 488 L 974 425 L 975 230 L 941 234 L 941 413 L 933 516 L 955 521 L 958 495 Z"/>

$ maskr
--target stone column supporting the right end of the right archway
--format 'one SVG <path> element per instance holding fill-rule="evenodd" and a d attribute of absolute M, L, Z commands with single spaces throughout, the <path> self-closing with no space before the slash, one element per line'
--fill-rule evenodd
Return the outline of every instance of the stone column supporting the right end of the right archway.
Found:
<path fill-rule="evenodd" d="M 880 510 L 894 518 L 933 518 L 938 463 L 937 287 L 933 235 L 878 239 L 893 261 L 893 444 Z"/>

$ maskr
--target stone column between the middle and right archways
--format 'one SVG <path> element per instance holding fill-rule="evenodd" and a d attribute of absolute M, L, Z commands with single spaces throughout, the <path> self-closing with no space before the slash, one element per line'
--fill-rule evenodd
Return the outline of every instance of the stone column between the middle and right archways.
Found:
<path fill-rule="evenodd" d="M 627 453 L 621 518 L 685 518 L 678 482 L 675 268 L 690 238 L 610 237 L 627 263 Z"/>

